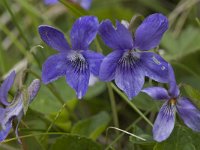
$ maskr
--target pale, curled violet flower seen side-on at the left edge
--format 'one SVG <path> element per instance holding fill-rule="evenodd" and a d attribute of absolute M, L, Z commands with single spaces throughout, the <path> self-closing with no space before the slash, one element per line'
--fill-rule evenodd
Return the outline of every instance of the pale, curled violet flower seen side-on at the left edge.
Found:
<path fill-rule="evenodd" d="M 8 91 L 13 85 L 15 79 L 15 71 L 13 71 L 2 83 L 0 87 L 0 142 L 3 141 L 12 128 L 12 122 L 15 118 L 17 118 L 17 126 L 15 128 L 15 134 L 18 138 L 18 126 L 21 121 L 21 118 L 24 114 L 24 97 L 22 92 L 17 92 L 12 102 L 8 102 L 7 95 Z M 28 105 L 32 102 L 35 96 L 38 93 L 40 88 L 40 80 L 35 79 L 28 87 Z M 20 142 L 19 138 L 18 141 Z"/>

